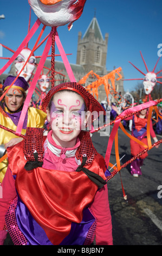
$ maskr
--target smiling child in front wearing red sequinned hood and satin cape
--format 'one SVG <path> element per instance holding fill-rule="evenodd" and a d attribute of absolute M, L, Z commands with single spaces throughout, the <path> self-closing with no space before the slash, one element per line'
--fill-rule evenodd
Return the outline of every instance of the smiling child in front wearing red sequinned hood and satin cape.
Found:
<path fill-rule="evenodd" d="M 24 140 L 8 148 L 1 244 L 8 230 L 15 245 L 90 245 L 94 235 L 96 245 L 112 245 L 108 170 L 89 132 L 81 131 L 90 113 L 104 109 L 74 82 L 52 88 L 42 110 L 48 135 L 28 128 Z"/>

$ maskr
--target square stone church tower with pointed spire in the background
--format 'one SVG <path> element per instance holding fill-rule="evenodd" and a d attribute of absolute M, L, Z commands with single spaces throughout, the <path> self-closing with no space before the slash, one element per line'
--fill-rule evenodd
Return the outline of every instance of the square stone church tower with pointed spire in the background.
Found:
<path fill-rule="evenodd" d="M 94 17 L 82 39 L 81 36 L 82 33 L 79 32 L 76 64 L 82 65 L 86 73 L 93 70 L 98 74 L 106 74 L 108 33 L 103 39 L 98 21 Z"/>

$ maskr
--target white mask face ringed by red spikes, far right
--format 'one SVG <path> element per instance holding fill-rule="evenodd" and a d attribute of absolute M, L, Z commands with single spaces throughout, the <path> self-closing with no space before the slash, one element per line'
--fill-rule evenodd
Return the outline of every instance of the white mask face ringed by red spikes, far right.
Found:
<path fill-rule="evenodd" d="M 157 82 L 157 75 L 154 72 L 148 72 L 144 77 L 144 82 L 143 82 L 145 93 L 147 95 L 151 94 L 156 82 Z"/>

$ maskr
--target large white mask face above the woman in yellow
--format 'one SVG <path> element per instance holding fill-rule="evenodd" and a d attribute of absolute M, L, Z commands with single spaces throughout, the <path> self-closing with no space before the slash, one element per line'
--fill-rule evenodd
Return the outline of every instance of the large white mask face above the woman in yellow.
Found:
<path fill-rule="evenodd" d="M 17 56 L 17 58 L 15 60 L 15 69 L 16 69 L 17 75 L 23 68 L 23 65 L 25 64 L 26 60 L 28 59 L 30 53 L 31 53 L 30 49 L 24 48 L 21 51 L 21 53 Z M 35 69 L 35 63 L 36 63 L 35 57 L 31 56 L 30 59 L 28 60 L 27 65 L 25 65 L 23 71 L 20 74 L 20 76 L 24 77 L 24 79 L 27 82 L 30 80 L 31 75 L 33 74 L 33 71 Z"/>

